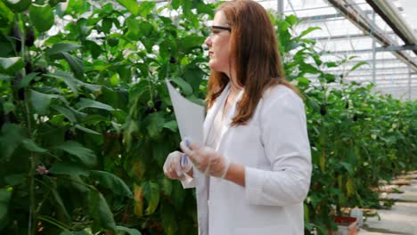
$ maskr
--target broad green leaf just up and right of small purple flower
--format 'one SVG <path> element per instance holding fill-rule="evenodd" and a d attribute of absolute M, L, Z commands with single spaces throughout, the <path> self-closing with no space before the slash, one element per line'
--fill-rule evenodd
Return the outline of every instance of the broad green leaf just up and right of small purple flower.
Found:
<path fill-rule="evenodd" d="M 95 164 L 94 151 L 87 149 L 79 142 L 64 142 L 61 145 L 56 146 L 55 149 L 64 150 L 73 156 L 78 157 L 78 160 L 86 166 L 94 166 Z"/>

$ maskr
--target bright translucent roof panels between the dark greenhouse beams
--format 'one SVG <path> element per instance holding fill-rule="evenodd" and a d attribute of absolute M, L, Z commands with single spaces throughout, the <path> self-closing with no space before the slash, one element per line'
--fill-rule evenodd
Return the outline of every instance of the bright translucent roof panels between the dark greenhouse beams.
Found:
<path fill-rule="evenodd" d="M 266 9 L 277 11 L 280 1 L 282 1 L 285 15 L 294 14 L 304 20 L 296 28 L 296 33 L 309 27 L 322 28 L 310 33 L 308 38 L 317 42 L 318 49 L 329 51 L 329 54 L 323 56 L 324 60 L 356 56 L 354 61 L 348 62 L 342 68 L 329 69 L 330 71 L 335 73 L 347 71 L 356 62 L 366 61 L 368 65 L 349 73 L 345 81 L 364 83 L 375 81 L 377 89 L 382 93 L 391 93 L 394 97 L 401 99 L 417 99 L 416 53 L 411 50 L 398 51 L 400 46 L 405 45 L 405 41 L 397 36 L 393 28 L 378 13 L 373 12 L 372 6 L 365 0 L 345 1 L 373 25 L 372 31 L 378 30 L 380 35 L 388 38 L 391 43 L 390 48 L 384 48 L 385 45 L 380 44 L 374 36 L 358 28 L 353 22 L 355 20 L 352 20 L 355 16 L 350 16 L 351 19 L 348 19 L 327 0 L 258 0 L 258 3 L 264 5 Z M 415 13 L 417 1 L 392 0 L 390 3 L 397 9 L 400 18 L 404 20 L 403 23 L 412 28 L 413 35 L 417 38 L 417 14 Z M 399 53 L 403 56 L 398 55 Z M 405 63 L 404 59 L 400 60 L 400 57 L 413 61 L 414 68 Z"/>

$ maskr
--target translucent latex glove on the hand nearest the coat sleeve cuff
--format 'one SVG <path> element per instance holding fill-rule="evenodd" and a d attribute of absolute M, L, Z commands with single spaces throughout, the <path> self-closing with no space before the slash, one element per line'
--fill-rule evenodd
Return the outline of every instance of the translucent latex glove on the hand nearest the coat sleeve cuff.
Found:
<path fill-rule="evenodd" d="M 230 165 L 229 159 L 223 157 L 216 150 L 198 143 L 185 141 L 181 142 L 180 146 L 184 154 L 201 173 L 225 178 Z"/>

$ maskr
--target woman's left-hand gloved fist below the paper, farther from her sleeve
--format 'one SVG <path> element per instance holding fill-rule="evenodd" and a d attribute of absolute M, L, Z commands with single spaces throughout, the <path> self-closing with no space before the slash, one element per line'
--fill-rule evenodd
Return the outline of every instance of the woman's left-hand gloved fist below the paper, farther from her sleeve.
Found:
<path fill-rule="evenodd" d="M 184 174 L 188 173 L 191 168 L 192 162 L 187 158 L 184 158 L 184 153 L 180 151 L 171 152 L 163 166 L 164 174 L 167 175 L 168 178 L 180 181 L 184 181 Z"/>

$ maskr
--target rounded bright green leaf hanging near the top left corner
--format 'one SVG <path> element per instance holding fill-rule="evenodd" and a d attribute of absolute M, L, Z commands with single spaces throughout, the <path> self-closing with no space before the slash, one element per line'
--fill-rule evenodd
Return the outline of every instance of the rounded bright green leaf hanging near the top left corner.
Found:
<path fill-rule="evenodd" d="M 39 32 L 45 32 L 53 26 L 53 9 L 49 5 L 32 4 L 29 7 L 29 17 Z"/>

